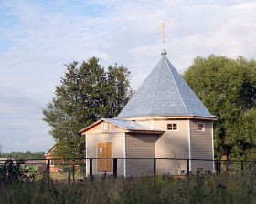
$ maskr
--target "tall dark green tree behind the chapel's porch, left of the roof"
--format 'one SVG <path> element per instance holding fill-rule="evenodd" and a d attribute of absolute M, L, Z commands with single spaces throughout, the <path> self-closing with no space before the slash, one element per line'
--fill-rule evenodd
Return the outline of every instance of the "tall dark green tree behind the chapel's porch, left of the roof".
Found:
<path fill-rule="evenodd" d="M 66 65 L 67 72 L 55 89 L 55 97 L 43 109 L 59 158 L 83 158 L 85 141 L 79 135 L 80 129 L 101 117 L 115 117 L 132 95 L 127 68 L 109 66 L 105 72 L 96 57 L 78 64 Z"/>

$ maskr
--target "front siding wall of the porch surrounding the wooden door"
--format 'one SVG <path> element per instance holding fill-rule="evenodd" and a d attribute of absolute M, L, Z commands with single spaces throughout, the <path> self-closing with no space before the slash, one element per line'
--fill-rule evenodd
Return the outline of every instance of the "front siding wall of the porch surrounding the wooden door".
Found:
<path fill-rule="evenodd" d="M 86 158 L 97 158 L 97 143 L 98 142 L 112 142 L 112 157 L 123 158 L 123 133 L 102 133 L 102 134 L 86 134 Z M 117 161 L 118 175 L 123 175 L 123 160 Z M 86 174 L 89 175 L 90 164 L 87 160 Z M 97 174 L 96 160 L 93 160 L 92 172 Z M 100 173 L 101 174 L 101 173 Z"/>

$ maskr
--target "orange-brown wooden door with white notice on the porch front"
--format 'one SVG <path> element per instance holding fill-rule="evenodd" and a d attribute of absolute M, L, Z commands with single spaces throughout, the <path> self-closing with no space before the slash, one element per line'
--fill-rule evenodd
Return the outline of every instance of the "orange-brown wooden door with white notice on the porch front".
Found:
<path fill-rule="evenodd" d="M 112 142 L 97 143 L 97 172 L 112 172 Z"/>

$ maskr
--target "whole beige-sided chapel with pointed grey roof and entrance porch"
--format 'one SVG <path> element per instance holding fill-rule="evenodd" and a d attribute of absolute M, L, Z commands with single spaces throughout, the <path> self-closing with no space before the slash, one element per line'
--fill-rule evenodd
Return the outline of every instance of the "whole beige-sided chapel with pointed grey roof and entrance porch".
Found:
<path fill-rule="evenodd" d="M 153 173 L 153 159 L 214 159 L 211 115 L 182 76 L 162 58 L 144 80 L 118 117 L 102 118 L 80 130 L 85 137 L 86 158 L 118 159 L 118 175 L 142 176 Z M 212 161 L 190 160 L 189 170 L 214 171 Z M 87 174 L 89 174 L 87 162 Z M 187 171 L 187 161 L 157 159 L 160 173 Z M 93 162 L 93 174 L 112 173 L 112 159 Z"/>

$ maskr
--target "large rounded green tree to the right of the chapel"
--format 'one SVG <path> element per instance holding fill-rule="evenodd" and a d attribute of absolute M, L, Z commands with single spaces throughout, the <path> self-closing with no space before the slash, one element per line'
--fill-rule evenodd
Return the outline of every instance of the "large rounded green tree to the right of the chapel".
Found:
<path fill-rule="evenodd" d="M 216 157 L 247 159 L 256 155 L 256 132 L 251 131 L 251 122 L 256 125 L 252 114 L 256 107 L 256 62 L 242 56 L 197 57 L 184 78 L 211 114 L 219 117 L 214 127 Z"/>

